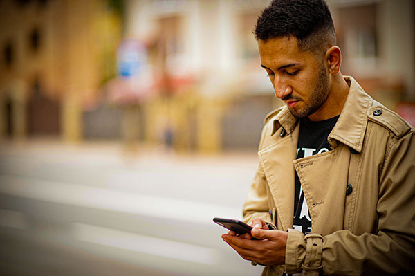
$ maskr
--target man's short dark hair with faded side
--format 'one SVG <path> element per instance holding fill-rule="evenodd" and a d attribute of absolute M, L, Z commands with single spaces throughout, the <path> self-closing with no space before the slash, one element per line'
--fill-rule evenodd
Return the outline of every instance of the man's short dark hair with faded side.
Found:
<path fill-rule="evenodd" d="M 335 45 L 335 30 L 324 0 L 273 0 L 257 19 L 255 38 L 296 37 L 299 50 L 319 52 Z"/>

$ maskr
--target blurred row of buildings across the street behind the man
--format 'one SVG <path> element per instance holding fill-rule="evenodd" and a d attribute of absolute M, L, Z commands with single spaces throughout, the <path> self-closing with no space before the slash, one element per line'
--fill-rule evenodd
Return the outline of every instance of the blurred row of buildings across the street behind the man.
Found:
<path fill-rule="evenodd" d="M 1 137 L 255 149 L 282 104 L 252 35 L 267 3 L 0 1 Z M 342 73 L 413 124 L 414 1 L 329 6 Z"/>

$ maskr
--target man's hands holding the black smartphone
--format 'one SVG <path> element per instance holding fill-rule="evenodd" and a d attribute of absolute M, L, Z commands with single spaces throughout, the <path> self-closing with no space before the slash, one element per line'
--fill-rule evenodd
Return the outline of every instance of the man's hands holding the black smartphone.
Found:
<path fill-rule="evenodd" d="M 251 234 L 239 237 L 234 232 L 223 234 L 223 241 L 237 251 L 243 259 L 266 265 L 284 264 L 288 232 L 268 230 L 265 221 L 261 219 L 254 219 L 252 224 L 254 229 L 251 230 Z M 252 240 L 251 235 L 258 240 Z"/>

